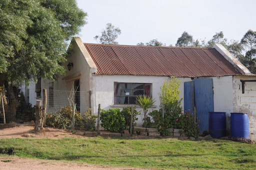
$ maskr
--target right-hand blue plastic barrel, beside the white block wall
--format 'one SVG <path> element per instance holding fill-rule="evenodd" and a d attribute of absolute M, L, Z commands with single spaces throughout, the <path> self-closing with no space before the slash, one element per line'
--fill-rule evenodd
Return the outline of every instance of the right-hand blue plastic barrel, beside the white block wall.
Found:
<path fill-rule="evenodd" d="M 231 137 L 249 138 L 248 114 L 243 112 L 230 113 L 230 133 Z"/>

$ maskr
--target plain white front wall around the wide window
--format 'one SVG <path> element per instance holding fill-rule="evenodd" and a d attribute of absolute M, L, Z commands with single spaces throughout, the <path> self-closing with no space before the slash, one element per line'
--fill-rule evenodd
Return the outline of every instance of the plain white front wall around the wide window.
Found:
<path fill-rule="evenodd" d="M 162 85 L 162 81 L 166 80 L 166 76 L 146 76 L 146 75 L 95 75 L 95 89 L 94 89 L 94 98 L 95 98 L 95 108 L 97 110 L 98 104 L 102 109 L 109 109 L 109 108 L 123 108 L 128 106 L 127 104 L 114 104 L 114 82 L 133 82 L 133 83 L 152 83 L 151 86 L 151 93 L 152 97 L 155 98 L 155 107 L 151 107 L 148 109 L 148 112 L 152 109 L 159 109 L 160 101 L 158 92 L 160 91 L 160 86 Z M 168 77 L 170 78 L 170 77 Z M 181 81 L 180 83 L 180 98 L 184 94 L 184 81 L 189 81 L 191 78 L 183 78 L 178 77 L 178 80 Z M 183 107 L 183 100 L 182 100 L 182 107 Z M 137 124 L 141 125 L 143 118 L 142 108 L 137 107 L 138 111 L 141 111 L 141 116 L 137 116 Z M 96 114 L 96 112 L 95 112 Z"/>

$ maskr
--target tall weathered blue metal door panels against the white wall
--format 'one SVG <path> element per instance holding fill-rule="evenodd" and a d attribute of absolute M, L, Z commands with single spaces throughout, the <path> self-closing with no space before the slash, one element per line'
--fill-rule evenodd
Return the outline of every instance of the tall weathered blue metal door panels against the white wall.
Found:
<path fill-rule="evenodd" d="M 196 108 L 199 131 L 208 131 L 208 112 L 214 111 L 212 78 L 196 78 L 184 82 L 184 109 L 193 112 Z"/>

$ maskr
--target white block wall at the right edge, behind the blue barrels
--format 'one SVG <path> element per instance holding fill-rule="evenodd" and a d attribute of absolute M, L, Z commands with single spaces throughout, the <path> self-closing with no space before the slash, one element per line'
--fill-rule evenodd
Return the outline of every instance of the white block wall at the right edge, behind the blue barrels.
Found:
<path fill-rule="evenodd" d="M 233 112 L 248 113 L 249 136 L 256 140 L 256 82 L 245 82 L 244 93 L 242 93 L 240 79 L 256 80 L 256 76 L 236 75 L 233 77 Z"/>

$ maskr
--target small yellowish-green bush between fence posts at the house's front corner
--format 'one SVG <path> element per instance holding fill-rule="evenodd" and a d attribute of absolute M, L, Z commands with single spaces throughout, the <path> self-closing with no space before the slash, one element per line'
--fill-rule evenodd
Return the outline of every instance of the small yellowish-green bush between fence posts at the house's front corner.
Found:
<path fill-rule="evenodd" d="M 90 108 L 86 111 L 84 111 L 82 115 L 82 120 L 83 120 L 83 129 L 88 130 L 88 131 L 93 131 L 95 130 L 95 122 L 96 122 L 96 115 L 91 115 L 90 113 Z"/>

